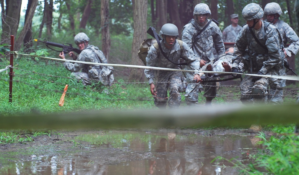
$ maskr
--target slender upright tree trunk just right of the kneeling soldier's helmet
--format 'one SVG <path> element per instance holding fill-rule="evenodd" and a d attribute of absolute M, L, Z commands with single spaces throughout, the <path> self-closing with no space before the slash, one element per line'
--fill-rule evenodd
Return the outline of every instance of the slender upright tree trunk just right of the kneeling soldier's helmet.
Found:
<path fill-rule="evenodd" d="M 109 33 L 109 0 L 101 0 L 102 51 L 108 61 L 111 40 Z"/>

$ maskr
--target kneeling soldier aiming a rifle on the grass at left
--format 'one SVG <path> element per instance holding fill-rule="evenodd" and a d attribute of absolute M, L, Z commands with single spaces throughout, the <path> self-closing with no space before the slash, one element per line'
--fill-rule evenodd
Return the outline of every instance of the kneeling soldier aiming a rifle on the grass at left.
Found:
<path fill-rule="evenodd" d="M 98 47 L 88 44 L 89 38 L 85 33 L 78 33 L 74 37 L 74 41 L 81 50 L 77 57 L 74 52 L 69 52 L 68 55 L 74 60 L 94 63 L 108 63 L 103 52 Z M 64 53 L 59 54 L 61 59 L 65 59 Z M 91 85 L 93 79 L 96 83 L 101 82 L 105 86 L 111 86 L 114 81 L 113 67 L 97 66 L 80 63 L 64 62 L 64 67 L 71 71 L 71 75 L 75 76 L 83 85 Z"/>

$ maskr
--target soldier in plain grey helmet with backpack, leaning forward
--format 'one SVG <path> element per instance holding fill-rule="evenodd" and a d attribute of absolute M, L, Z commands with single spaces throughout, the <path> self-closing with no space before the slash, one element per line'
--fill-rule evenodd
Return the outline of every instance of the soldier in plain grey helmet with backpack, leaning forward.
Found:
<path fill-rule="evenodd" d="M 161 27 L 159 35 L 162 36 L 162 50 L 156 49 L 154 45 L 149 47 L 146 57 L 147 66 L 165 67 L 173 69 L 181 69 L 180 58 L 186 60 L 192 70 L 199 71 L 199 61 L 195 58 L 193 51 L 184 42 L 177 40 L 179 30 L 174 24 L 164 24 Z M 181 44 L 179 44 L 181 42 Z M 182 51 L 181 51 L 182 47 Z M 162 51 L 165 53 L 163 54 Z M 182 52 L 182 53 L 181 53 Z M 167 56 L 164 57 L 164 55 Z M 149 70 L 145 69 L 144 74 L 149 80 L 150 92 L 155 96 L 155 105 L 158 108 L 165 108 L 167 105 L 167 89 L 170 89 L 168 106 L 177 108 L 181 104 L 181 90 L 183 88 L 183 75 L 181 71 L 168 70 Z M 155 89 L 154 78 L 158 80 L 158 85 Z M 193 73 L 193 79 L 197 79 L 197 83 L 201 80 L 199 72 Z"/>

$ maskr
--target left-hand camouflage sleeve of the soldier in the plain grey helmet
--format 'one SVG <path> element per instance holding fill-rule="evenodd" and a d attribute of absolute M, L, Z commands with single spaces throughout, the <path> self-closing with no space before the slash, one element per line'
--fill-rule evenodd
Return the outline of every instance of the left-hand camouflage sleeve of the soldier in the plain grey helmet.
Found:
<path fill-rule="evenodd" d="M 153 45 L 151 47 L 149 47 L 146 61 L 147 61 L 147 66 L 150 66 L 150 67 L 155 67 L 156 63 L 158 62 L 157 50 L 155 49 L 155 47 Z M 149 80 L 149 84 L 154 83 L 155 70 L 145 69 L 144 74 L 147 77 L 147 79 Z"/>

